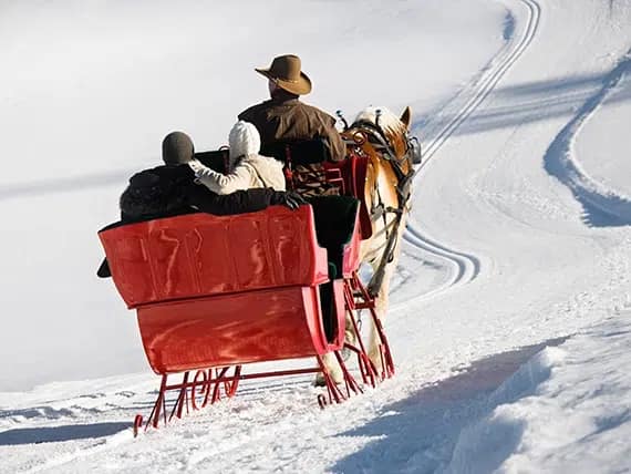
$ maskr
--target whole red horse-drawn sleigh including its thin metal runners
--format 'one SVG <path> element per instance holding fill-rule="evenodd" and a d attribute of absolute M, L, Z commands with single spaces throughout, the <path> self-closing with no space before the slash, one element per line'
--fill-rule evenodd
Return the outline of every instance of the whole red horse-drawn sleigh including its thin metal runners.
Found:
<path fill-rule="evenodd" d="M 358 277 L 359 207 L 351 197 L 328 196 L 297 210 L 188 214 L 99 233 L 114 284 L 137 312 L 149 365 L 162 375 L 145 430 L 234 396 L 242 380 L 319 372 L 324 406 L 393 374 L 374 301 Z M 360 336 L 362 309 L 380 337 L 377 364 Z M 354 343 L 344 341 L 346 324 L 358 334 Z M 344 348 L 355 354 L 356 368 L 346 365 Z M 322 360 L 327 353 L 340 364 L 343 383 L 333 382 Z M 252 362 L 303 358 L 316 364 L 245 370 Z M 173 383 L 176 374 L 180 379 Z M 177 395 L 167 410 L 169 391 Z M 142 425 L 137 415 L 136 433 Z"/>

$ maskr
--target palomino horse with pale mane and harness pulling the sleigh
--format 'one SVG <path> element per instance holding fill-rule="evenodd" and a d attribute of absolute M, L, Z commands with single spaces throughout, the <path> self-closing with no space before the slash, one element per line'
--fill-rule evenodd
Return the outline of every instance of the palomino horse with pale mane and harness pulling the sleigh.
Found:
<path fill-rule="evenodd" d="M 418 142 L 408 135 L 410 123 L 410 107 L 401 117 L 385 107 L 368 107 L 342 133 L 349 144 L 349 156 L 368 158 L 362 200 L 370 216 L 372 235 L 362 241 L 361 260 L 373 269 L 368 290 L 375 299 L 380 320 L 387 311 L 390 280 L 401 249 L 413 164 L 421 161 Z M 369 357 L 379 367 L 382 354 L 374 327 L 369 341 Z"/>

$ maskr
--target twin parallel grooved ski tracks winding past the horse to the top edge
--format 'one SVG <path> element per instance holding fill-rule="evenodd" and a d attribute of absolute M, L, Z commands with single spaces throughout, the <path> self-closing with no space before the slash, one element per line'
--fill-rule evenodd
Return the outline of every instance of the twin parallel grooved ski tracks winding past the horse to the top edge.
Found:
<path fill-rule="evenodd" d="M 524 3 L 528 10 L 528 19 L 521 38 L 519 41 L 517 41 L 517 43 L 509 41 L 500 50 L 500 52 L 493 58 L 490 64 L 497 63 L 497 65 L 492 65 L 485 73 L 480 75 L 480 78 L 473 86 L 474 92 L 468 101 L 436 134 L 436 136 L 432 138 L 430 144 L 426 145 L 424 162 L 415 171 L 417 175 L 420 175 L 425 166 L 427 166 L 427 164 L 432 161 L 432 157 L 435 156 L 436 152 L 441 150 L 441 147 L 454 134 L 458 126 L 461 126 L 494 91 L 495 86 L 501 80 L 504 74 L 506 74 L 506 72 L 513 66 L 513 64 L 515 64 L 515 62 L 532 42 L 532 39 L 535 38 L 535 34 L 539 27 L 541 8 L 535 0 L 519 1 Z M 447 246 L 430 238 L 418 228 L 418 225 L 410 218 L 407 219 L 403 239 L 410 245 L 423 251 L 427 251 L 432 255 L 443 258 L 453 269 L 451 272 L 451 278 L 428 293 L 422 295 L 421 297 L 423 299 L 438 295 L 443 291 L 446 291 L 447 289 L 453 289 L 457 286 L 468 284 L 479 275 L 480 261 L 475 255 L 451 249 Z"/>

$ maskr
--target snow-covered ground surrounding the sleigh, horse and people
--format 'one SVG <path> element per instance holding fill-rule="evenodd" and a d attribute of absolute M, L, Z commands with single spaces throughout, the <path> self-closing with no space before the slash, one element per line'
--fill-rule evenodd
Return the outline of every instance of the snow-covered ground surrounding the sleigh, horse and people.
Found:
<path fill-rule="evenodd" d="M 397 374 L 323 412 L 244 384 L 133 440 L 157 380 L 95 231 L 290 51 L 308 102 L 415 112 Z M 0 4 L 0 472 L 630 472 L 630 51 L 629 0 Z"/>

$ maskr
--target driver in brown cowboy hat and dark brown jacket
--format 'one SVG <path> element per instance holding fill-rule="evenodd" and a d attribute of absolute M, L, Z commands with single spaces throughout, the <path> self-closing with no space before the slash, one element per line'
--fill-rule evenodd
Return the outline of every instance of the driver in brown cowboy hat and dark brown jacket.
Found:
<path fill-rule="evenodd" d="M 261 150 L 277 142 L 323 138 L 330 159 L 345 157 L 345 145 L 335 130 L 335 118 L 299 101 L 311 92 L 311 80 L 301 71 L 300 58 L 285 54 L 271 66 L 256 71 L 269 81 L 271 99 L 239 114 L 239 120 L 255 124 L 261 135 Z"/>

